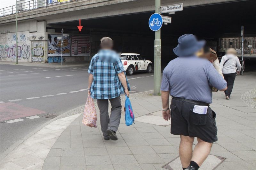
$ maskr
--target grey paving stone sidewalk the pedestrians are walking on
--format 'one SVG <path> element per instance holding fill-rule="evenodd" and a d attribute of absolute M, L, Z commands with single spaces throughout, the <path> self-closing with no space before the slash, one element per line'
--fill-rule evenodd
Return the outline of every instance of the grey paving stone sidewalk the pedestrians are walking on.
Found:
<path fill-rule="evenodd" d="M 246 98 L 246 95 L 253 98 L 252 93 L 248 91 L 255 88 L 255 78 L 256 72 L 238 75 L 231 94 L 232 100 L 225 100 L 224 92 L 213 93 L 211 108 L 217 114 L 218 141 L 213 144 L 211 154 L 226 158 L 216 169 L 249 170 L 256 167 L 256 111 L 253 108 L 256 103 Z M 171 122 L 164 121 L 161 117 L 161 96 L 152 96 L 151 93 L 131 95 L 135 124 L 126 126 L 122 112 L 117 141 L 104 140 L 99 114 L 97 128 L 84 126 L 81 123 L 83 115 L 77 113 L 81 112 L 80 108 L 80 111 L 76 111 L 77 114 L 69 113 L 67 117 L 63 117 L 70 122 L 74 120 L 72 123 L 56 120 L 59 121 L 58 126 L 48 126 L 51 130 L 62 130 L 59 137 L 54 137 L 52 142 L 39 142 L 47 147 L 39 145 L 36 141 L 38 137 L 33 136 L 34 139 L 29 138 L 30 143 L 24 145 L 34 145 L 34 148 L 17 147 L 18 152 L 11 152 L 11 155 L 1 161 L 0 169 L 164 170 L 162 166 L 179 155 L 180 138 L 170 133 Z M 244 103 L 246 101 L 248 102 Z M 124 102 L 122 103 L 124 105 Z M 61 127 L 61 123 L 66 124 L 65 127 Z M 49 136 L 47 131 L 41 135 L 44 135 L 44 138 Z M 195 140 L 194 146 L 196 143 Z M 42 146 L 45 150 L 40 155 Z M 24 152 L 27 156 L 24 156 Z"/>

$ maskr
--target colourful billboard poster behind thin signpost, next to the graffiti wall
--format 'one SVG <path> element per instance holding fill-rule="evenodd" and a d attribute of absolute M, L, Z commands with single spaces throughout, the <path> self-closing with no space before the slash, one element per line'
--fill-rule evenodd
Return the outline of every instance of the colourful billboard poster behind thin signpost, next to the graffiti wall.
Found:
<path fill-rule="evenodd" d="M 61 35 L 48 35 L 48 56 L 61 56 Z M 70 37 L 63 36 L 62 56 L 70 56 Z"/>

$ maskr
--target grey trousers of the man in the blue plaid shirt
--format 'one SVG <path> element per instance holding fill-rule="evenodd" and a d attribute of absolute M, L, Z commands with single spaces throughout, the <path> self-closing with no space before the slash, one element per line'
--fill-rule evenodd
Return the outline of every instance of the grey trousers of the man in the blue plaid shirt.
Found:
<path fill-rule="evenodd" d="M 111 103 L 111 114 L 108 116 L 108 100 Z M 107 129 L 117 131 L 121 119 L 121 97 L 118 96 L 113 99 L 97 99 L 98 107 L 100 109 L 100 126 L 104 137 L 109 137 Z"/>

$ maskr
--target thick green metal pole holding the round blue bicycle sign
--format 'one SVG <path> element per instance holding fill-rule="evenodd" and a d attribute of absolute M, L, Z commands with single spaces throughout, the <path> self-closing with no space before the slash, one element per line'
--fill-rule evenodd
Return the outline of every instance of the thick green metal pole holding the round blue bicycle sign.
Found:
<path fill-rule="evenodd" d="M 161 0 L 156 0 L 156 13 L 160 13 Z M 154 95 L 160 94 L 161 84 L 161 29 L 155 32 L 154 46 Z"/>

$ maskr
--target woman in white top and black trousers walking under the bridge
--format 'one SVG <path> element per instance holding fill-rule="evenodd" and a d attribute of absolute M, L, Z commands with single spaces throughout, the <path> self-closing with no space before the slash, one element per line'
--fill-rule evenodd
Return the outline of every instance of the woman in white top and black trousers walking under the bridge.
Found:
<path fill-rule="evenodd" d="M 241 70 L 241 64 L 238 57 L 236 57 L 236 50 L 234 48 L 228 48 L 226 55 L 224 55 L 220 61 L 220 69 L 222 70 L 224 79 L 228 83 L 228 89 L 224 91 L 226 99 L 231 99 L 230 94 L 232 92 L 236 78 L 236 66 L 238 68 L 237 73 L 239 74 Z"/>

